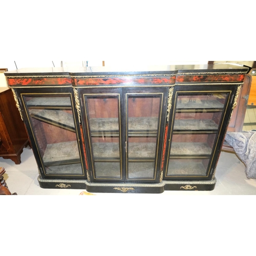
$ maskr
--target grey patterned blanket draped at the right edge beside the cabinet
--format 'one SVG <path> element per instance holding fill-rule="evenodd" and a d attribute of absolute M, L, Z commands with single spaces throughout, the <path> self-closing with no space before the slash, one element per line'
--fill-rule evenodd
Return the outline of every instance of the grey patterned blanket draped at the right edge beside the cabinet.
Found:
<path fill-rule="evenodd" d="M 248 179 L 256 179 L 256 132 L 227 133 L 225 140 L 245 164 Z"/>

